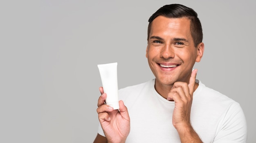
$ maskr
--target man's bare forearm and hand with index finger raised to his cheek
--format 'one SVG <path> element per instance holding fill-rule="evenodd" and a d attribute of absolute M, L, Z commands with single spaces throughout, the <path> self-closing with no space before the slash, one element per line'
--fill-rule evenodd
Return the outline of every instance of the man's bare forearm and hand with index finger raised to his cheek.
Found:
<path fill-rule="evenodd" d="M 200 137 L 190 123 L 196 73 L 197 69 L 192 71 L 189 84 L 186 82 L 175 82 L 167 97 L 167 100 L 172 99 L 175 101 L 173 126 L 179 133 L 180 141 L 182 143 L 202 143 Z"/>

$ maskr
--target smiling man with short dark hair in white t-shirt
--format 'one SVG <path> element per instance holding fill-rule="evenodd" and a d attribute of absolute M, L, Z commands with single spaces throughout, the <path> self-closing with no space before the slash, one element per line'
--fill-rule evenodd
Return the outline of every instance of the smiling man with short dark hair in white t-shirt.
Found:
<path fill-rule="evenodd" d="M 120 89 L 119 110 L 104 104 L 100 87 L 94 143 L 245 143 L 240 105 L 205 87 L 192 71 L 204 53 L 197 13 L 171 4 L 148 21 L 146 58 L 155 79 Z"/>

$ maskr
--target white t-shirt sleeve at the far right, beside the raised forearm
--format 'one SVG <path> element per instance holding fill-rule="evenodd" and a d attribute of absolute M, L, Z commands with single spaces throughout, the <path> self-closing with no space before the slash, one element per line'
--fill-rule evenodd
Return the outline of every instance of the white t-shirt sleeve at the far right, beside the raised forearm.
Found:
<path fill-rule="evenodd" d="M 213 143 L 246 143 L 247 124 L 240 105 L 232 104 L 224 116 L 216 130 Z"/>

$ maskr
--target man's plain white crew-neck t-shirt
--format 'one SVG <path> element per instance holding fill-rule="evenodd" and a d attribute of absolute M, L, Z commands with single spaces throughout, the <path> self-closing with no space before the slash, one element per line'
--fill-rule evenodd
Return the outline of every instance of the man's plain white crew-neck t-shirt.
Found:
<path fill-rule="evenodd" d="M 247 125 L 240 105 L 205 87 L 200 81 L 193 93 L 191 124 L 204 143 L 245 143 Z M 126 143 L 180 143 L 172 116 L 175 103 L 154 88 L 155 79 L 119 90 L 130 115 Z M 105 136 L 99 125 L 99 134 Z"/>

